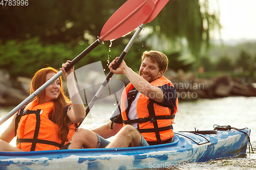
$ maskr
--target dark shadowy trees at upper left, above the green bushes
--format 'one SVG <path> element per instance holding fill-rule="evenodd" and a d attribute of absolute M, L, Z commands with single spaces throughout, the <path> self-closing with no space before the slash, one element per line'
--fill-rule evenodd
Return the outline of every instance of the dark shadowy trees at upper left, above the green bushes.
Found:
<path fill-rule="evenodd" d="M 28 2 L 28 6 L 1 7 L 0 39 L 40 37 L 44 43 L 70 42 L 83 39 L 86 30 L 96 37 L 106 20 L 125 1 Z"/>

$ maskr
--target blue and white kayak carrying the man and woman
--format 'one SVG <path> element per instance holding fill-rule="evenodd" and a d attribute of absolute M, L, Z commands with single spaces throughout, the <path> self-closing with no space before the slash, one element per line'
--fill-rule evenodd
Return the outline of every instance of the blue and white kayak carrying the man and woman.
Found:
<path fill-rule="evenodd" d="M 177 168 L 246 155 L 250 129 L 202 132 L 176 132 L 172 143 L 148 147 L 0 152 L 0 169 Z"/>

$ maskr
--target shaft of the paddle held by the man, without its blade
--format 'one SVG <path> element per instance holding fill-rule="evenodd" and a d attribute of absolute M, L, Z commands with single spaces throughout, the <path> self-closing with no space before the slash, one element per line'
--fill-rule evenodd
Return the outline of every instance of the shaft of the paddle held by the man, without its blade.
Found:
<path fill-rule="evenodd" d="M 136 30 L 136 32 L 134 33 L 133 37 L 131 38 L 131 40 L 129 41 L 129 43 L 126 45 L 126 47 L 124 48 L 124 51 L 122 52 L 122 54 L 120 55 L 119 59 L 117 60 L 116 64 L 114 65 L 113 69 L 117 69 L 119 67 L 119 65 L 121 64 L 123 58 L 125 57 L 125 55 L 127 54 L 127 52 L 130 50 L 131 46 L 133 45 L 134 41 L 136 40 L 136 38 L 138 37 L 139 33 L 141 32 L 141 30 L 143 29 L 145 25 L 142 23 L 138 29 Z M 104 88 L 106 87 L 106 85 L 109 83 L 110 79 L 113 76 L 113 72 L 109 72 L 108 76 L 106 77 L 106 79 L 104 80 L 104 82 L 101 84 L 100 88 L 98 89 L 98 91 L 96 92 L 96 94 L 94 95 L 93 99 L 91 100 L 91 102 L 89 103 L 89 105 L 86 108 L 86 115 L 90 112 L 90 109 L 93 107 L 93 105 L 95 104 L 95 102 L 98 100 L 101 92 L 104 90 Z M 80 123 L 81 125 L 81 123 Z"/>

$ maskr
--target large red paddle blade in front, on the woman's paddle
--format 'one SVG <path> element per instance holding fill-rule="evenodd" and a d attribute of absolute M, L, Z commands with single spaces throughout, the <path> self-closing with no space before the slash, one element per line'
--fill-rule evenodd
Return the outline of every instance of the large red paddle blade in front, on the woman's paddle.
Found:
<path fill-rule="evenodd" d="M 155 4 L 152 0 L 126 1 L 103 26 L 99 40 L 108 41 L 120 38 L 143 23 L 153 12 Z"/>

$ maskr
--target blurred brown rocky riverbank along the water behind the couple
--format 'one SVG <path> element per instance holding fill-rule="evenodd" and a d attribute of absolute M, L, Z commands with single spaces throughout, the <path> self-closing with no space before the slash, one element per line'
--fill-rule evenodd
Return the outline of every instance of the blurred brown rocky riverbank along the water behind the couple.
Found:
<path fill-rule="evenodd" d="M 214 99 L 227 96 L 256 96 L 255 83 L 244 83 L 240 78 L 221 75 L 215 78 L 199 78 L 193 72 L 168 71 L 164 75 L 171 80 L 180 101 Z M 120 77 L 121 78 L 121 77 Z M 126 85 L 127 79 L 122 79 Z M 31 79 L 17 77 L 11 80 L 8 72 L 0 70 L 0 106 L 16 106 L 28 96 Z M 64 82 L 65 91 L 67 92 Z M 67 92 L 68 94 L 68 92 Z"/>

